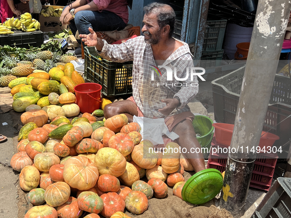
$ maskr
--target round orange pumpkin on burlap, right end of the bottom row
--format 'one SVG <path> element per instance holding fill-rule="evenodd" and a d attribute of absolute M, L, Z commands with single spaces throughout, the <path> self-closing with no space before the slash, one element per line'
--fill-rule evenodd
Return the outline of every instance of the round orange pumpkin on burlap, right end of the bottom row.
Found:
<path fill-rule="evenodd" d="M 125 204 L 132 214 L 142 214 L 148 209 L 148 198 L 141 191 L 131 191 L 125 199 Z"/>

